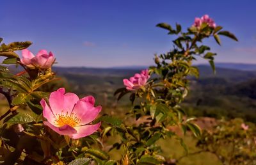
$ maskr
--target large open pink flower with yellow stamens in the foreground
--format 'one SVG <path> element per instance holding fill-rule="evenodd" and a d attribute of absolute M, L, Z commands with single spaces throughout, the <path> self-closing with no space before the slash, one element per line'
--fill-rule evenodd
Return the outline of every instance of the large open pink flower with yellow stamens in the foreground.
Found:
<path fill-rule="evenodd" d="M 79 139 L 93 134 L 100 127 L 91 123 L 101 111 L 101 106 L 94 107 L 95 100 L 92 96 L 79 100 L 74 93 L 65 93 L 64 88 L 51 93 L 49 106 L 44 98 L 41 100 L 43 116 L 47 119 L 45 125 L 61 135 L 72 139 Z"/>

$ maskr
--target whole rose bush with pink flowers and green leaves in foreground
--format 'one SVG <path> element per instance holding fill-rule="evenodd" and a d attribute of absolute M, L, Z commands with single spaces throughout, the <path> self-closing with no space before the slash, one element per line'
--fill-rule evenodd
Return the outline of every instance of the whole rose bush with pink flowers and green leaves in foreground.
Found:
<path fill-rule="evenodd" d="M 60 88 L 51 93 L 40 89 L 56 81 L 52 72 L 55 58 L 52 52 L 39 51 L 34 56 L 28 51 L 31 42 L 2 44 L 0 56 L 3 64 L 24 68 L 13 74 L 8 67 L 0 67 L 0 93 L 8 100 L 9 109 L 0 116 L 3 164 L 168 164 L 161 155 L 159 139 L 176 138 L 187 150 L 186 144 L 170 127 L 179 127 L 186 134 L 191 131 L 201 137 L 195 118 L 186 116 L 180 103 L 188 94 L 188 77 L 198 77 L 193 66 L 196 57 L 209 61 L 214 70 L 214 56 L 205 38 L 213 37 L 218 44 L 220 35 L 237 40 L 228 31 L 222 31 L 208 15 L 196 18 L 193 26 L 184 31 L 166 23 L 157 25 L 169 35 L 177 35 L 173 49 L 156 55 L 155 66 L 124 79 L 124 88 L 116 90 L 120 100 L 129 94 L 131 111 L 120 120 L 109 114 L 99 114 L 92 96 L 80 98 L 75 93 L 65 93 Z M 2 39 L 0 40 L 0 42 Z M 22 50 L 22 59 L 15 51 Z M 150 77 L 152 77 L 150 79 Z M 24 107 L 25 110 L 24 110 Z M 127 121 L 140 120 L 138 124 Z M 147 118 L 147 120 L 143 120 Z M 242 126 L 246 130 L 246 125 Z M 109 150 L 105 141 L 116 139 Z M 116 138 L 118 137 L 118 138 Z M 116 149 L 122 155 L 111 160 L 108 152 Z"/>

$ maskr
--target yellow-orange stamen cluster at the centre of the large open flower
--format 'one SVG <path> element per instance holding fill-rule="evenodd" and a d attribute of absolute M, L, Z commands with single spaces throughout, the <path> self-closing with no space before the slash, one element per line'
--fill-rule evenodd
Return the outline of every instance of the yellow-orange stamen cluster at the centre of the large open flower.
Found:
<path fill-rule="evenodd" d="M 74 113 L 68 114 L 67 112 L 66 114 L 63 114 L 63 111 L 61 111 L 61 114 L 55 114 L 55 116 L 55 122 L 59 127 L 62 127 L 63 125 L 75 127 L 81 121 L 81 119 L 77 118 L 76 114 Z"/>

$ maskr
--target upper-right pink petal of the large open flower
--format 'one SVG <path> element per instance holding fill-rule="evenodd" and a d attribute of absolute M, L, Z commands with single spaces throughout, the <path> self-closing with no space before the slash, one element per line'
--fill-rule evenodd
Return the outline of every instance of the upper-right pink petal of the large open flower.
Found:
<path fill-rule="evenodd" d="M 72 113 L 76 114 L 77 118 L 81 120 L 79 125 L 85 125 L 95 120 L 100 111 L 101 106 L 93 107 L 91 103 L 79 100 Z"/>

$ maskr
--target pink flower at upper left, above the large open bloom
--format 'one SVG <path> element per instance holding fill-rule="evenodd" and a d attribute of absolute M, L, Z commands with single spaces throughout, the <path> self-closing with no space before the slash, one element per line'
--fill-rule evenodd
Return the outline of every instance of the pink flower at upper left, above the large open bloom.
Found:
<path fill-rule="evenodd" d="M 52 52 L 49 52 L 48 54 L 46 50 L 41 50 L 34 56 L 28 49 L 24 49 L 22 50 L 22 59 L 20 59 L 20 62 L 29 68 L 37 67 L 47 69 L 52 67 L 54 60 L 55 58 Z"/>

